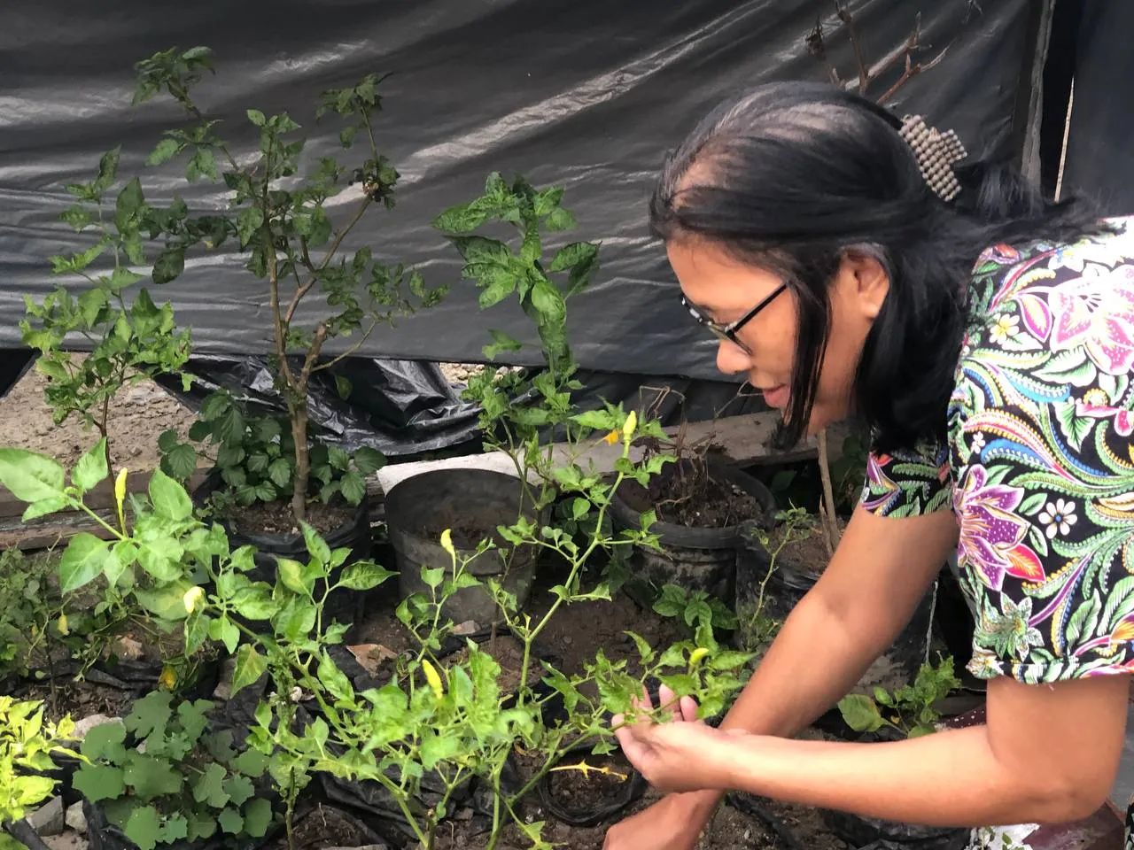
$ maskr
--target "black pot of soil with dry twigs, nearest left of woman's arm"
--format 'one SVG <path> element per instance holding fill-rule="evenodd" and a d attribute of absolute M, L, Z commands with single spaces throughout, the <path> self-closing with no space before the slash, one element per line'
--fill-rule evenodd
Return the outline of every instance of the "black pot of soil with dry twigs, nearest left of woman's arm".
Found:
<path fill-rule="evenodd" d="M 669 464 L 662 476 L 675 475 L 688 461 Z M 713 464 L 714 481 L 738 487 L 752 495 L 763 513 L 776 510 L 776 500 L 760 481 L 733 466 Z M 642 515 L 654 508 L 649 491 L 634 481 L 626 481 L 611 500 L 610 513 L 616 527 L 641 528 Z M 748 521 L 760 519 L 747 518 Z M 635 546 L 632 567 L 635 575 L 655 585 L 677 585 L 686 590 L 704 590 L 731 605 L 736 595 L 736 547 L 745 520 L 723 528 L 693 528 L 657 521 L 651 530 L 658 535 L 661 551 Z"/>

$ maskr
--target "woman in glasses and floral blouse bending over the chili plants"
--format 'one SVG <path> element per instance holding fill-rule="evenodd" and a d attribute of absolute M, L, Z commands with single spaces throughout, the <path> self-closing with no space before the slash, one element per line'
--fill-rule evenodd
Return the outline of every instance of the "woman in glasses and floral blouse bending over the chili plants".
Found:
<path fill-rule="evenodd" d="M 848 415 L 874 439 L 838 551 L 721 728 L 618 729 L 674 793 L 608 850 L 692 848 L 729 789 L 955 826 L 1075 821 L 1109 793 L 1134 671 L 1134 230 L 926 134 L 778 83 L 718 108 L 661 175 L 652 227 L 718 367 L 784 410 L 787 442 Z M 987 724 L 792 740 L 953 551 Z"/>

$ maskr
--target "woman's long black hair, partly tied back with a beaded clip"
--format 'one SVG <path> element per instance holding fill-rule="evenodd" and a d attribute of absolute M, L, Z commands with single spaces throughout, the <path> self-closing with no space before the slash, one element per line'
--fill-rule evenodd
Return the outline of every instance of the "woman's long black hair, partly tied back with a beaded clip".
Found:
<path fill-rule="evenodd" d="M 873 256 L 890 278 L 854 405 L 875 445 L 891 451 L 945 437 L 965 290 L 981 252 L 1107 229 L 1082 199 L 1049 202 L 1006 163 L 956 165 L 962 193 L 946 203 L 900 127 L 886 109 L 829 84 L 761 85 L 705 117 L 670 154 L 653 193 L 655 236 L 708 239 L 781 275 L 795 294 L 781 444 L 805 433 L 830 330 L 828 284 L 847 253 Z"/>

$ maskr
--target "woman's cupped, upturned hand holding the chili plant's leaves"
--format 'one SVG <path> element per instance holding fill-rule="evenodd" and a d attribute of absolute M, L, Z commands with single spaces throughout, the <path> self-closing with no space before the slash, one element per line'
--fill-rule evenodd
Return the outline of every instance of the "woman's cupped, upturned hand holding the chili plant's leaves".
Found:
<path fill-rule="evenodd" d="M 627 760 L 659 791 L 723 790 L 730 773 L 730 740 L 743 730 L 725 732 L 706 725 L 696 719 L 697 705 L 691 697 L 676 699 L 665 686 L 658 697 L 663 706 L 672 706 L 672 722 L 627 720 L 621 714 L 612 720 Z M 649 696 L 636 707 L 650 711 Z"/>

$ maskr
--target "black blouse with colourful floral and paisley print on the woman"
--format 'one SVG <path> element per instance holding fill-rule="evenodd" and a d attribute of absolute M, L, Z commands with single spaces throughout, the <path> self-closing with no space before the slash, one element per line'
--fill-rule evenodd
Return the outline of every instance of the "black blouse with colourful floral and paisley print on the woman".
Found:
<path fill-rule="evenodd" d="M 1110 223 L 985 250 L 947 445 L 868 460 L 868 510 L 956 513 L 982 679 L 1134 672 L 1134 218 Z"/>

